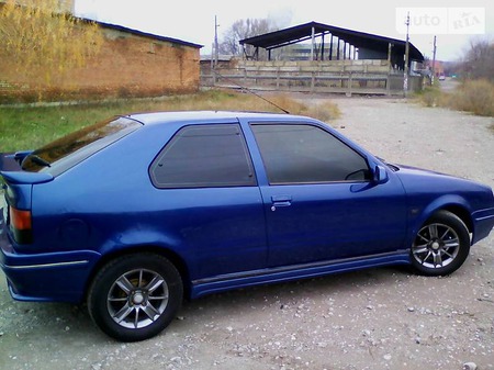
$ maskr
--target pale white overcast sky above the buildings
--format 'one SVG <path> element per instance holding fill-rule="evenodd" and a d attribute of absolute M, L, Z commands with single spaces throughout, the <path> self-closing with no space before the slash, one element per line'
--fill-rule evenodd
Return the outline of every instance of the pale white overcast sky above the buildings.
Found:
<path fill-rule="evenodd" d="M 409 41 L 433 58 L 456 60 L 474 40 L 494 42 L 492 0 L 75 0 L 76 15 L 160 36 L 204 45 L 211 54 L 215 16 L 218 41 L 237 20 L 270 19 L 284 29 L 318 22 L 344 29 Z"/>

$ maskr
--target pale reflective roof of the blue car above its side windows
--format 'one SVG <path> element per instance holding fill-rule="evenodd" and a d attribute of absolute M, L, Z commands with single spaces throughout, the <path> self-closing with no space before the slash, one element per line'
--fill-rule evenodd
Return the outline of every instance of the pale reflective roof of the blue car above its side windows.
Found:
<path fill-rule="evenodd" d="M 133 113 L 126 115 L 132 120 L 139 121 L 145 125 L 160 124 L 166 122 L 224 122 L 237 121 L 238 119 L 250 120 L 307 120 L 299 115 L 287 113 L 269 113 L 269 112 L 237 112 L 237 111 L 178 111 L 178 112 L 145 112 Z"/>

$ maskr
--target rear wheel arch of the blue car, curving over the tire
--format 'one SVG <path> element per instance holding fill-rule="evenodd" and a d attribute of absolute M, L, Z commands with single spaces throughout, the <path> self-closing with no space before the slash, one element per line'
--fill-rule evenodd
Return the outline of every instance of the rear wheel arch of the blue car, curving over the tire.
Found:
<path fill-rule="evenodd" d="M 122 256 L 134 255 L 134 254 L 145 254 L 145 253 L 162 256 L 162 257 L 167 258 L 176 267 L 176 269 L 178 270 L 178 272 L 182 279 L 184 296 L 189 298 L 190 290 L 191 290 L 191 287 L 189 283 L 190 274 L 189 274 L 189 269 L 187 268 L 187 264 L 183 260 L 183 258 L 180 257 L 178 254 L 176 254 L 173 250 L 165 248 L 165 247 L 158 247 L 158 246 L 154 246 L 154 245 L 136 245 L 136 246 L 132 246 L 132 247 L 126 247 L 125 249 L 112 250 L 112 251 L 103 255 L 98 260 L 98 262 L 92 267 L 92 270 L 86 282 L 85 294 L 83 294 L 85 299 L 88 296 L 89 289 L 91 288 L 94 277 L 97 276 L 98 271 L 100 271 L 103 266 L 105 266 L 110 261 L 114 260 L 115 258 L 120 258 Z"/>

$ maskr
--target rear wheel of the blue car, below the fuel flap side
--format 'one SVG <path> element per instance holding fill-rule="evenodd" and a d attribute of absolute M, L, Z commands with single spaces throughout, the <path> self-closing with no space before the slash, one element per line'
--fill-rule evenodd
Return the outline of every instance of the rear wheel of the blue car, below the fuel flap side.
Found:
<path fill-rule="evenodd" d="M 175 318 L 183 299 L 176 267 L 155 254 L 122 256 L 105 265 L 88 293 L 92 321 L 122 341 L 148 339 Z"/>

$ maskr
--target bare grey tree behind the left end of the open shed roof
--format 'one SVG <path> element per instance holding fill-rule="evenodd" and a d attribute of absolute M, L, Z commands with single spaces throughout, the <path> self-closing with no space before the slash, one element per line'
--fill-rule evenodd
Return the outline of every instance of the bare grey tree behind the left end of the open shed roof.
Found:
<path fill-rule="evenodd" d="M 268 19 L 238 20 L 224 33 L 220 43 L 220 53 L 240 55 L 243 49 L 239 41 L 276 31 L 274 24 Z M 247 45 L 250 46 L 250 45 Z M 252 51 L 248 49 L 247 53 Z"/>

